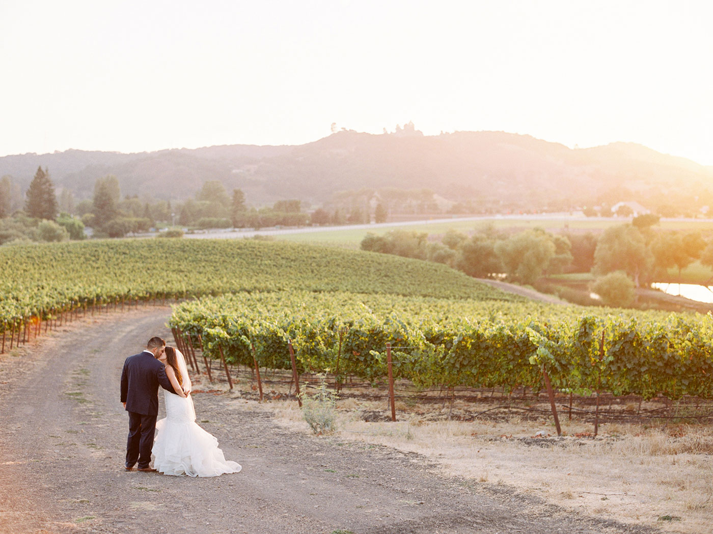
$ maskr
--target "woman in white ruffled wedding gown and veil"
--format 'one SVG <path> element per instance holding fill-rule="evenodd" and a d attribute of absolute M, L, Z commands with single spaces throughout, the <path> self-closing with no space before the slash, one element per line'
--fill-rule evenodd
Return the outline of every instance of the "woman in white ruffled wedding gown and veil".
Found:
<path fill-rule="evenodd" d="M 190 378 L 180 350 L 165 347 L 158 359 L 178 394 L 163 390 L 166 417 L 156 423 L 156 438 L 151 453 L 153 466 L 165 475 L 218 476 L 237 473 L 241 467 L 225 459 L 218 440 L 195 423 L 195 409 L 190 397 Z M 183 389 L 187 389 L 186 395 Z"/>

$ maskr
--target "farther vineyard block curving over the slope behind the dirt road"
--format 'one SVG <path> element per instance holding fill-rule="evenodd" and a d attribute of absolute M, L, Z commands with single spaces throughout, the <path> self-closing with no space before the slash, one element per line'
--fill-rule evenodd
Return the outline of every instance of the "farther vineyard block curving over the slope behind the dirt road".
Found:
<path fill-rule="evenodd" d="M 16 245 L 0 248 L 0 331 L 26 337 L 29 323 L 102 305 L 294 289 L 521 300 L 445 266 L 318 246 L 171 239 Z"/>

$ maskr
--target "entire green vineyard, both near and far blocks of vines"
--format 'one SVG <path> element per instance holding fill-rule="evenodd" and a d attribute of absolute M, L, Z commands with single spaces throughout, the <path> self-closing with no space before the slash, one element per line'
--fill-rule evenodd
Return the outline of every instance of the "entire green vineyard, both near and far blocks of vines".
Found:
<path fill-rule="evenodd" d="M 0 327 L 185 300 L 170 325 L 228 363 L 416 388 L 713 398 L 713 318 L 544 305 L 435 263 L 319 246 L 93 241 L 0 248 Z M 198 298 L 198 299 L 196 299 Z M 29 333 L 29 334 L 28 334 Z M 199 337 L 200 336 L 200 337 Z M 546 373 L 546 374 L 545 374 Z"/>

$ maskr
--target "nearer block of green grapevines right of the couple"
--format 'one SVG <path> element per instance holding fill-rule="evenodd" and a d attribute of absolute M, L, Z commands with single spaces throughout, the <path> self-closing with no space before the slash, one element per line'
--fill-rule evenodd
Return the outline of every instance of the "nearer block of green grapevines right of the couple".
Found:
<path fill-rule="evenodd" d="M 299 291 L 182 303 L 173 328 L 227 362 L 329 371 L 375 382 L 391 345 L 396 379 L 429 387 L 553 387 L 645 399 L 713 398 L 713 318 L 585 308 Z"/>

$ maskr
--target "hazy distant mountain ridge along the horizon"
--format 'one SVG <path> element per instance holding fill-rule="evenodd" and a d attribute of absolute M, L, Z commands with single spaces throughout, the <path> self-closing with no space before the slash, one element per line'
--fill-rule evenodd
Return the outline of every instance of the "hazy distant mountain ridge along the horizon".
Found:
<path fill-rule="evenodd" d="M 115 175 L 124 195 L 159 199 L 193 196 L 206 180 L 245 192 L 248 204 L 302 199 L 329 201 L 363 188 L 428 188 L 453 201 L 546 205 L 591 199 L 615 187 L 632 191 L 713 189 L 713 167 L 615 142 L 587 149 L 507 132 L 435 136 L 342 131 L 305 145 L 224 145 L 122 154 L 66 150 L 0 157 L 0 176 L 24 188 L 38 166 L 56 187 L 91 197 L 96 179 Z"/>

